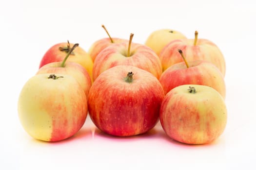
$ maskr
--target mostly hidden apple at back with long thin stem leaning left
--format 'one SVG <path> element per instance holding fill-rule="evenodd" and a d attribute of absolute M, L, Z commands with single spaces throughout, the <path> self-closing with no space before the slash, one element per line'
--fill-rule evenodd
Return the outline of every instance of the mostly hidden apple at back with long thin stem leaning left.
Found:
<path fill-rule="evenodd" d="M 108 34 L 109 38 L 102 38 L 97 40 L 96 42 L 94 42 L 92 44 L 92 46 L 89 48 L 89 55 L 91 56 L 93 62 L 95 60 L 95 58 L 97 57 L 98 53 L 100 51 L 102 51 L 103 49 L 105 49 L 106 47 L 112 45 L 112 44 L 118 44 L 118 43 L 122 43 L 122 42 L 128 42 L 128 40 L 126 39 L 121 39 L 121 38 L 112 38 L 110 36 L 110 34 L 108 33 L 106 27 L 104 25 L 101 25 L 102 28 L 106 31 L 106 33 Z"/>

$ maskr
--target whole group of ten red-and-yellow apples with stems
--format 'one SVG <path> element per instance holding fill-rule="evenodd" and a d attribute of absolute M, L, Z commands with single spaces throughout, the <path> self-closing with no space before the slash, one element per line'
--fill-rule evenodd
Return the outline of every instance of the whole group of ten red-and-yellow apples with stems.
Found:
<path fill-rule="evenodd" d="M 102 38 L 88 53 L 59 43 L 41 59 L 18 102 L 21 125 L 32 137 L 59 141 L 75 135 L 87 113 L 112 136 L 148 132 L 160 120 L 171 138 L 210 143 L 227 123 L 225 60 L 213 42 L 180 32 L 152 32 L 145 44 Z"/>

